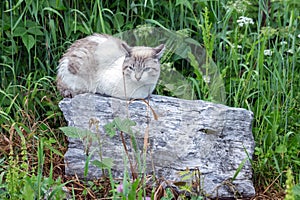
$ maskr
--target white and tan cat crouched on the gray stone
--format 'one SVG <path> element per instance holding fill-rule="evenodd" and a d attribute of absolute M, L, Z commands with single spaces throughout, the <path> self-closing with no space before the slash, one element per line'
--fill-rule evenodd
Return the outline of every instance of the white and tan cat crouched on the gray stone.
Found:
<path fill-rule="evenodd" d="M 105 34 L 75 41 L 59 61 L 57 88 L 63 97 L 99 93 L 121 99 L 146 98 L 160 76 L 165 45 L 129 46 Z"/>

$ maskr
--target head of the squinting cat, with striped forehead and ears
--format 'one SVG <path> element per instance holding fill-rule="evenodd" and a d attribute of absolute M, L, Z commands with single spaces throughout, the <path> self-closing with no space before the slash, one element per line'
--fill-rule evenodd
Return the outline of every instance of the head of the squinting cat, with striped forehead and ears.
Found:
<path fill-rule="evenodd" d="M 160 75 L 160 58 L 165 45 L 157 47 L 130 47 L 126 43 L 121 44 L 126 53 L 123 63 L 123 73 L 127 79 L 141 83 L 155 83 Z"/>

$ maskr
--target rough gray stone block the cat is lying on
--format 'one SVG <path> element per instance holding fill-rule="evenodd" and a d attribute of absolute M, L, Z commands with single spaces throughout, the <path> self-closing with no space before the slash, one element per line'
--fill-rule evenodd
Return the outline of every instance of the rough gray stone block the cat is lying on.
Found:
<path fill-rule="evenodd" d="M 116 117 L 129 117 L 136 122 L 133 133 L 139 149 L 143 149 L 144 136 L 149 134 L 146 174 L 154 172 L 157 177 L 180 181 L 178 172 L 199 169 L 203 193 L 209 198 L 234 198 L 235 192 L 243 197 L 255 195 L 249 161 L 254 151 L 251 111 L 156 95 L 148 101 L 152 110 L 142 100 L 129 103 L 93 94 L 63 99 L 59 106 L 68 126 L 89 129 L 98 138 L 88 142 L 86 138 L 69 138 L 66 174 L 82 179 L 99 178 L 103 170 L 92 164 L 84 177 L 88 154 L 91 160 L 99 160 L 100 155 L 113 158 L 115 178 L 122 178 L 125 169 L 130 172 L 128 166 L 124 167 L 126 154 L 119 132 L 111 138 L 103 127 Z M 132 157 L 130 137 L 124 135 Z M 230 181 L 237 171 L 236 178 Z"/>

